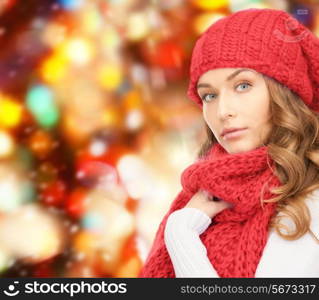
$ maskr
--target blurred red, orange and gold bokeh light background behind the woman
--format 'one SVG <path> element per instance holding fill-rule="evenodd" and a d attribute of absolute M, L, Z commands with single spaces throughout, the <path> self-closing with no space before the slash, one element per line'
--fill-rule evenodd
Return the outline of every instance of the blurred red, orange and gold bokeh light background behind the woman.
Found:
<path fill-rule="evenodd" d="M 191 51 L 220 17 L 319 1 L 1 0 L 0 276 L 136 277 L 205 132 Z"/>

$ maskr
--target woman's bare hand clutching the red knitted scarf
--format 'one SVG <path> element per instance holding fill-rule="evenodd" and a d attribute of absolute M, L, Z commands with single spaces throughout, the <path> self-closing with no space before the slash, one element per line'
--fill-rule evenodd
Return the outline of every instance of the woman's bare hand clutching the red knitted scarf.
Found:
<path fill-rule="evenodd" d="M 219 212 L 225 208 L 231 207 L 232 204 L 224 200 L 213 201 L 212 196 L 208 192 L 199 190 L 193 197 L 188 201 L 185 207 L 198 208 L 209 217 L 213 218 Z"/>

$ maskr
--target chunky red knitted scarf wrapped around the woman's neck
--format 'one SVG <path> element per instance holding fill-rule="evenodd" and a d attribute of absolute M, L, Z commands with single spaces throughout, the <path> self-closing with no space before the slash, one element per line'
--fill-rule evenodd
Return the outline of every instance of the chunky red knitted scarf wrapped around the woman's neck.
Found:
<path fill-rule="evenodd" d="M 183 208 L 199 189 L 233 204 L 218 213 L 200 235 L 218 275 L 254 277 L 276 209 L 276 203 L 261 203 L 262 196 L 275 196 L 270 189 L 280 185 L 273 168 L 267 146 L 229 154 L 220 144 L 214 144 L 205 158 L 183 171 L 183 189 L 161 221 L 139 277 L 175 277 L 164 242 L 165 224 L 168 216 Z"/>

